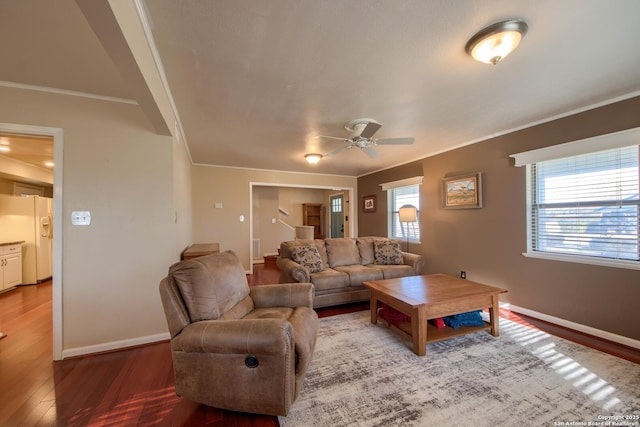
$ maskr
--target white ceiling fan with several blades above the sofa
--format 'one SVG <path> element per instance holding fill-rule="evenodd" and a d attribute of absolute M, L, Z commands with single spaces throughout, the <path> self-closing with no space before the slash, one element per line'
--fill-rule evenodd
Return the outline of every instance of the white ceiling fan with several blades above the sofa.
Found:
<path fill-rule="evenodd" d="M 319 136 L 318 138 L 338 139 L 347 143 L 342 148 L 327 153 L 324 157 L 335 156 L 336 154 L 351 148 L 360 148 L 366 155 L 375 159 L 378 152 L 373 148 L 376 145 L 407 145 L 413 144 L 413 138 L 382 138 L 374 139 L 373 135 L 382 127 L 382 124 L 374 119 L 355 119 L 345 123 L 344 128 L 351 132 L 347 138 L 336 136 Z"/>

